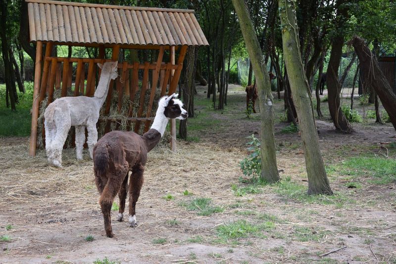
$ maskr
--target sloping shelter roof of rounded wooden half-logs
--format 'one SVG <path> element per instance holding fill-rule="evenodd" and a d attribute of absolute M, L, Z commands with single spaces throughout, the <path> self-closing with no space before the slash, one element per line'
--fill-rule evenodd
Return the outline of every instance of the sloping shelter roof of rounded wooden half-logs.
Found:
<path fill-rule="evenodd" d="M 194 10 L 26 1 L 33 42 L 77 46 L 208 45 Z"/>

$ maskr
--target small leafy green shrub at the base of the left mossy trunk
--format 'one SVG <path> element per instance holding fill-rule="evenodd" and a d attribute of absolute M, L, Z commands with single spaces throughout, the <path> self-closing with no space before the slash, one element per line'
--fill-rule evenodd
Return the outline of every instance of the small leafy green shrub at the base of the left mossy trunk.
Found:
<path fill-rule="evenodd" d="M 261 175 L 261 143 L 254 134 L 247 138 L 251 140 L 247 143 L 247 145 L 250 146 L 247 148 L 250 154 L 247 158 L 244 158 L 239 165 L 245 176 L 257 178 Z"/>

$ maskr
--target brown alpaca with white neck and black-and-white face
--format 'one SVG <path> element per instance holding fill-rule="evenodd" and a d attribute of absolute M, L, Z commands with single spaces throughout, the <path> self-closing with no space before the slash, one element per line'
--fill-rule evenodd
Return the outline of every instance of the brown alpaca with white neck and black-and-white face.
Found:
<path fill-rule="evenodd" d="M 161 139 L 168 119 L 187 118 L 187 111 L 182 108 L 183 103 L 176 99 L 177 96 L 173 94 L 159 100 L 152 126 L 143 136 L 134 132 L 112 131 L 99 139 L 94 147 L 95 182 L 108 237 L 114 236 L 110 211 L 117 193 L 120 199 L 117 221 L 124 220 L 125 199 L 129 190 L 129 225 L 137 226 L 135 206 L 143 185 L 147 154 Z M 132 174 L 128 187 L 129 171 Z"/>

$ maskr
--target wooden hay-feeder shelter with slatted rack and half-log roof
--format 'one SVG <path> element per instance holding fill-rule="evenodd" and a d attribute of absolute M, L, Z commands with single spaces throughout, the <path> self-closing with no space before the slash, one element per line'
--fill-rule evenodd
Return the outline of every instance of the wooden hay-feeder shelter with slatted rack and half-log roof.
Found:
<path fill-rule="evenodd" d="M 97 74 L 96 63 L 119 60 L 120 49 L 156 50 L 156 62 L 122 61 L 118 63 L 119 78 L 110 83 L 104 114 L 99 121 L 106 122 L 105 133 L 110 131 L 113 118 L 108 117 L 113 87 L 118 92 L 118 110 L 123 97 L 134 102 L 140 94 L 139 108 L 130 108 L 128 122 L 138 132 L 141 126 L 147 131 L 152 121 L 154 95 L 161 96 L 176 91 L 183 60 L 189 46 L 208 45 L 199 27 L 194 10 L 165 9 L 63 2 L 26 0 L 29 11 L 30 41 L 37 44 L 30 155 L 36 154 L 39 107 L 48 96 L 47 105 L 53 101 L 55 89 L 61 96 L 72 90 L 74 96 L 93 96 Z M 43 47 L 45 52 L 43 54 Z M 52 56 L 56 45 L 95 47 L 95 58 Z M 105 49 L 111 49 L 111 58 L 105 58 Z M 177 62 L 175 51 L 178 52 Z M 163 62 L 164 53 L 169 61 Z M 176 62 L 176 63 L 175 63 Z M 73 63 L 76 70 L 73 71 Z M 88 70 L 85 70 L 88 68 Z M 161 85 L 158 87 L 159 73 Z M 141 79 L 140 79 L 141 78 Z M 74 90 L 72 81 L 74 82 Z M 150 85 L 150 87 L 148 87 Z M 150 91 L 148 93 L 148 91 Z M 149 94 L 148 100 L 146 94 Z M 143 105 L 148 102 L 146 113 Z M 135 116 L 135 117 L 133 117 Z M 39 131 L 42 133 L 43 131 Z M 173 138 L 173 137 L 172 137 Z"/>

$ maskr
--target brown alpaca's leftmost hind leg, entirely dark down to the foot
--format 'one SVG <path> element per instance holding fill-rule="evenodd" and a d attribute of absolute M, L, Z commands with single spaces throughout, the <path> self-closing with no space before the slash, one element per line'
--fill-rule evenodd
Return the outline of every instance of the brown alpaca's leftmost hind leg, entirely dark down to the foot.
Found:
<path fill-rule="evenodd" d="M 118 172 L 111 173 L 112 175 L 108 176 L 108 181 L 104 186 L 103 192 L 100 195 L 99 204 L 103 213 L 104 220 L 104 230 L 106 231 L 106 236 L 113 237 L 113 230 L 111 228 L 111 206 L 114 202 L 114 198 L 117 195 L 118 191 L 121 188 L 121 184 L 123 178 L 120 177 Z M 126 171 L 123 172 L 123 175 L 126 174 Z"/>

